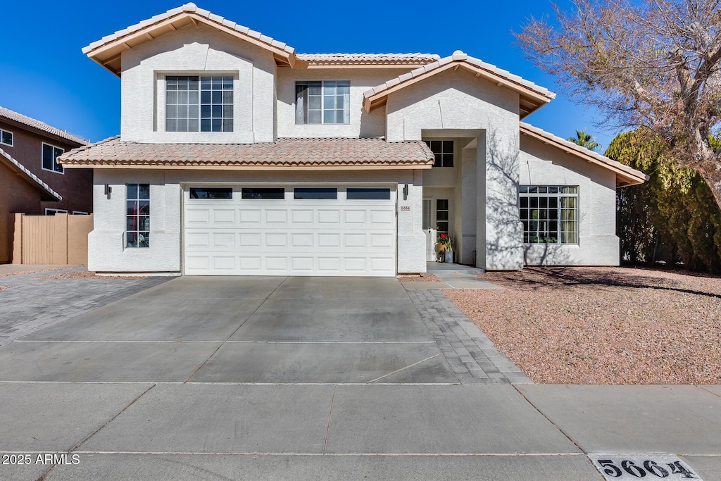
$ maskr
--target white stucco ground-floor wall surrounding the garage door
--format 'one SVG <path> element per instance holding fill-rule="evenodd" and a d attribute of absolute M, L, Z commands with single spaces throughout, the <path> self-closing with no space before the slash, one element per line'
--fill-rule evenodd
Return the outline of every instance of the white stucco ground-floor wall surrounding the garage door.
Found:
<path fill-rule="evenodd" d="M 125 183 L 150 183 L 150 247 L 125 247 Z M 182 271 L 182 183 L 243 182 L 283 185 L 303 182 L 397 184 L 397 270 L 425 272 L 422 229 L 423 175 L 414 170 L 232 171 L 95 169 L 94 229 L 89 234 L 89 270 L 99 272 L 180 273 Z M 105 184 L 112 187 L 110 199 Z M 403 187 L 409 186 L 408 198 Z M 401 210 L 410 206 L 410 211 Z"/>

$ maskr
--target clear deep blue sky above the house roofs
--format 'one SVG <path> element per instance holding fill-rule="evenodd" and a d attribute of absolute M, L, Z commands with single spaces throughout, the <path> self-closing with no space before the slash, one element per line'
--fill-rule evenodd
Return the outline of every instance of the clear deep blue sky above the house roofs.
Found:
<path fill-rule="evenodd" d="M 563 5 L 565 0 L 559 2 Z M 575 105 L 514 45 L 512 31 L 549 0 L 513 4 L 449 2 L 293 2 L 200 0 L 198 6 L 296 48 L 297 53 L 438 53 L 464 50 L 557 93 L 526 121 L 564 138 L 588 128 L 603 147 L 616 132 Z M 81 53 L 89 43 L 182 4 L 177 1 L 6 2 L 0 29 L 0 105 L 92 141 L 120 132 L 120 79 Z M 509 8 L 511 6 L 512 8 Z"/>

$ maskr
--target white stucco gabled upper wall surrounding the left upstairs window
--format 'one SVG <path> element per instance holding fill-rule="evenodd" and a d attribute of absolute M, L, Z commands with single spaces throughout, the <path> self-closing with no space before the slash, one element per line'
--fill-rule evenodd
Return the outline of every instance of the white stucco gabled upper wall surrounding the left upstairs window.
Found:
<path fill-rule="evenodd" d="M 267 50 L 205 25 L 187 25 L 123 52 L 120 136 L 124 141 L 275 141 L 275 61 Z M 232 132 L 166 132 L 165 75 L 234 76 Z"/>

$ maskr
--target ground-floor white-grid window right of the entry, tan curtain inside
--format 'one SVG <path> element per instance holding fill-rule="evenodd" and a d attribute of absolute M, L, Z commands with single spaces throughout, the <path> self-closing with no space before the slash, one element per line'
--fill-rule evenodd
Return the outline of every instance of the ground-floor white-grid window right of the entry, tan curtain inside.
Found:
<path fill-rule="evenodd" d="M 578 186 L 521 185 L 524 244 L 578 244 Z"/>

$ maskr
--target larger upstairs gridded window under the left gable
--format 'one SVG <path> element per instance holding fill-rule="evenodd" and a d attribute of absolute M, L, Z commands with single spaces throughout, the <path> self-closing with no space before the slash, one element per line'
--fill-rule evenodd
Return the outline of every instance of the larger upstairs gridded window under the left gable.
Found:
<path fill-rule="evenodd" d="M 166 76 L 165 131 L 232 132 L 233 77 Z"/>

